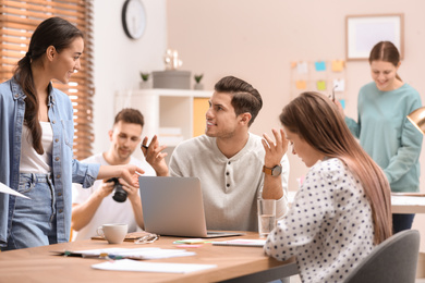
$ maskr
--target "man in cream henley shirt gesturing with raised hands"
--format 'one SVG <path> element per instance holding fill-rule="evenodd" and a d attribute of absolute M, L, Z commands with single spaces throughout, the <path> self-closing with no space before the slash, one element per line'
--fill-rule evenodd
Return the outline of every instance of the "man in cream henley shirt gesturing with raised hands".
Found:
<path fill-rule="evenodd" d="M 262 138 L 248 132 L 263 100 L 246 82 L 221 78 L 209 104 L 205 135 L 174 149 L 170 175 L 201 179 L 208 230 L 257 232 L 258 198 L 277 200 L 277 219 L 288 208 L 284 146 L 276 130 L 276 143 L 266 134 Z M 143 150 L 158 153 L 154 147 Z"/>

